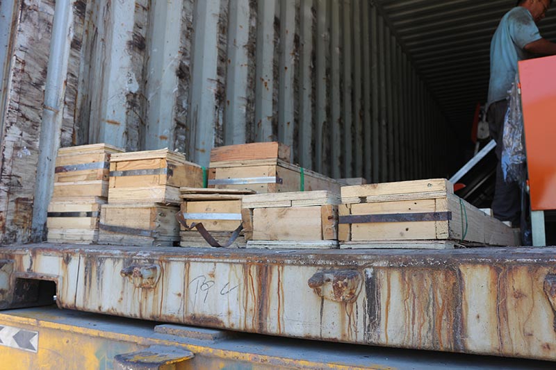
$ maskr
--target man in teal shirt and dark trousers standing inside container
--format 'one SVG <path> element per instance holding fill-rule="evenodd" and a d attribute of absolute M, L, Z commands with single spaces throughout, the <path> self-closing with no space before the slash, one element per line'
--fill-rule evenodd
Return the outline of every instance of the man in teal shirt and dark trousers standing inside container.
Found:
<path fill-rule="evenodd" d="M 493 215 L 511 221 L 518 227 L 521 221 L 521 191 L 518 183 L 506 183 L 502 175 L 502 134 L 508 108 L 508 91 L 518 71 L 518 61 L 534 56 L 556 54 L 556 44 L 539 33 L 537 23 L 546 15 L 553 0 L 521 0 L 502 17 L 491 41 L 491 76 L 486 103 L 486 120 L 490 135 L 496 141 L 496 187 L 492 202 Z"/>

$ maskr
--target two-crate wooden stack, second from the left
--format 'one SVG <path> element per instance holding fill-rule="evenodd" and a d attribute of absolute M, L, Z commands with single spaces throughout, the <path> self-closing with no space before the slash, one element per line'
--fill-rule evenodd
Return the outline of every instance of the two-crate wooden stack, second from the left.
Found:
<path fill-rule="evenodd" d="M 99 243 L 173 246 L 179 242 L 179 188 L 201 187 L 203 170 L 181 153 L 161 149 L 113 155 Z"/>

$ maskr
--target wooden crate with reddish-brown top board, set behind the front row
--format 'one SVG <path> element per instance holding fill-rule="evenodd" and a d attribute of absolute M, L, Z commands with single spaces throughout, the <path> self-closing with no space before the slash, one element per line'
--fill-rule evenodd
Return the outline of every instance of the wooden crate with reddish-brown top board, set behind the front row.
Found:
<path fill-rule="evenodd" d="M 211 151 L 208 185 L 218 189 L 254 190 L 257 193 L 329 190 L 341 183 L 291 164 L 289 146 L 263 142 L 221 146 Z"/>

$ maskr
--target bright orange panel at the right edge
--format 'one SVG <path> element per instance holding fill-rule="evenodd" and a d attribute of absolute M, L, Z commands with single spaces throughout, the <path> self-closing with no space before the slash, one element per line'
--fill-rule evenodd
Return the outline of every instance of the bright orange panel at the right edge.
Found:
<path fill-rule="evenodd" d="M 532 210 L 556 210 L 556 56 L 519 62 Z"/>

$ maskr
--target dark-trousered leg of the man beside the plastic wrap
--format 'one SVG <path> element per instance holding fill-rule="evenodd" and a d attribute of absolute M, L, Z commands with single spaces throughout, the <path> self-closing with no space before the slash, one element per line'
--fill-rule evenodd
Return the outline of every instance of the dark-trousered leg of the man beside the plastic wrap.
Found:
<path fill-rule="evenodd" d="M 504 133 L 504 120 L 508 103 L 507 101 L 497 101 L 489 107 L 487 120 L 491 137 L 496 141 L 496 187 L 494 199 L 492 201 L 492 211 L 494 217 L 502 221 L 511 221 L 514 226 L 520 223 L 521 199 L 520 189 L 516 182 L 506 183 L 502 173 L 502 135 Z"/>

